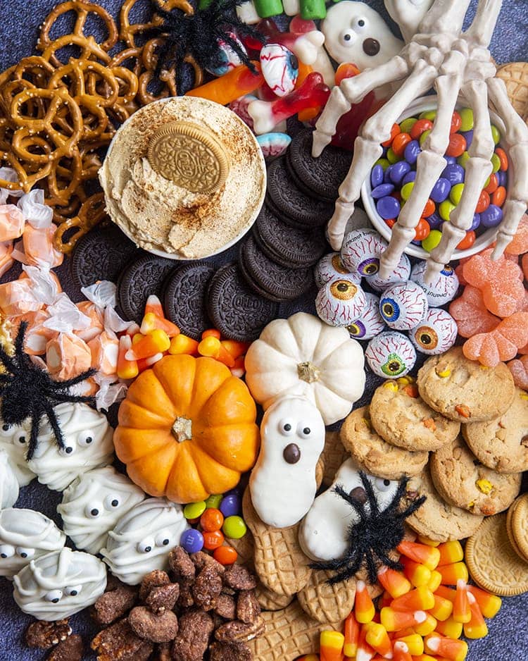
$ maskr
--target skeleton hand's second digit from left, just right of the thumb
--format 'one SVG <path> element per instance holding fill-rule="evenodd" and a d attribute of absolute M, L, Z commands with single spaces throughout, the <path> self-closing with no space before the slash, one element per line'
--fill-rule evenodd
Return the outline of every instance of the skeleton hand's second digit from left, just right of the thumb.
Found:
<path fill-rule="evenodd" d="M 386 101 L 382 109 L 368 118 L 360 135 L 354 142 L 354 155 L 348 174 L 339 186 L 339 199 L 334 215 L 328 223 L 328 238 L 334 250 L 341 248 L 346 223 L 353 214 L 361 187 L 372 165 L 382 155 L 381 143 L 388 140 L 391 128 L 409 104 L 409 99 L 416 99 L 425 94 L 436 78 L 436 68 L 423 60 L 418 60 L 413 73 L 403 85 Z M 335 89 L 335 88 L 334 88 Z"/>

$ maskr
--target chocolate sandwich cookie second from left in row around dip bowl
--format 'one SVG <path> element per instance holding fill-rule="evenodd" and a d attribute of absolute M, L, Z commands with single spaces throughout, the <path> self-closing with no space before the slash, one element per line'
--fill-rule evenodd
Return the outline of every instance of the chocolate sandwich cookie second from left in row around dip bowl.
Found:
<path fill-rule="evenodd" d="M 161 297 L 163 284 L 176 266 L 172 259 L 143 254 L 125 268 L 118 281 L 118 302 L 125 319 L 142 322 L 146 299 L 151 294 Z"/>

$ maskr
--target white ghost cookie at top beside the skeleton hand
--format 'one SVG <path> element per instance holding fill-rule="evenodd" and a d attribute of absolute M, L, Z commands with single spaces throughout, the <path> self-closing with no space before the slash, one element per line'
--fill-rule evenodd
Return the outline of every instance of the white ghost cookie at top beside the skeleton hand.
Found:
<path fill-rule="evenodd" d="M 337 63 L 360 71 L 389 61 L 403 48 L 379 13 L 364 2 L 343 0 L 327 10 L 321 23 L 325 49 Z"/>

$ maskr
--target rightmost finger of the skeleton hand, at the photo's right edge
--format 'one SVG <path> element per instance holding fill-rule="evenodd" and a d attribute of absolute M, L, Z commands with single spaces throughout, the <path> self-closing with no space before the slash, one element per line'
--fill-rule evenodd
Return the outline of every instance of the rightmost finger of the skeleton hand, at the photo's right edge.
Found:
<path fill-rule="evenodd" d="M 501 117 L 505 132 L 505 147 L 510 159 L 508 197 L 503 206 L 503 221 L 498 227 L 497 242 L 491 259 L 498 259 L 515 234 L 528 202 L 528 126 L 513 109 L 503 80 L 487 81 L 489 98 Z"/>

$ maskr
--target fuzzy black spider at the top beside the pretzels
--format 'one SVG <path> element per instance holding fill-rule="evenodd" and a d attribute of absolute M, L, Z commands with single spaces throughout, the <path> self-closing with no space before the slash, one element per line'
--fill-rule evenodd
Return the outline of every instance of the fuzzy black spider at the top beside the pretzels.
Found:
<path fill-rule="evenodd" d="M 182 89 L 184 78 L 184 57 L 190 54 L 203 69 L 214 69 L 222 64 L 222 51 L 219 41 L 230 46 L 252 73 L 256 68 L 248 54 L 240 47 L 237 39 L 229 32 L 233 30 L 241 37 L 252 37 L 265 43 L 265 37 L 251 25 L 246 25 L 237 16 L 237 6 L 243 0 L 212 0 L 204 9 L 196 9 L 194 14 L 184 13 L 181 9 L 165 11 L 151 0 L 156 13 L 163 18 L 163 23 L 155 28 L 165 39 L 158 51 L 158 64 L 155 75 L 159 78 L 163 69 L 176 70 L 177 89 Z"/>

